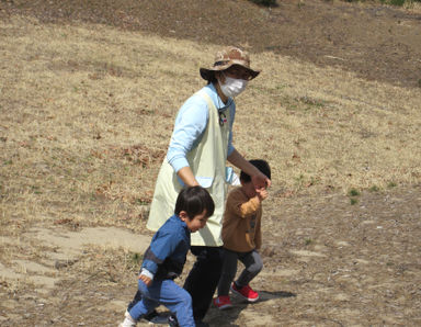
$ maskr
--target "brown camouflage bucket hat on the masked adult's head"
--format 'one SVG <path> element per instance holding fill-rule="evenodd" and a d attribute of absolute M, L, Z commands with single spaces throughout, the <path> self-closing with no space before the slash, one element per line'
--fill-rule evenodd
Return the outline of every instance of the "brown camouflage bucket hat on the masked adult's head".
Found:
<path fill-rule="evenodd" d="M 250 79 L 259 75 L 259 70 L 250 68 L 249 54 L 238 47 L 229 46 L 216 53 L 215 63 L 210 68 L 201 68 L 201 76 L 205 80 L 213 78 L 215 71 L 228 69 L 232 65 L 244 67 L 250 72 Z"/>

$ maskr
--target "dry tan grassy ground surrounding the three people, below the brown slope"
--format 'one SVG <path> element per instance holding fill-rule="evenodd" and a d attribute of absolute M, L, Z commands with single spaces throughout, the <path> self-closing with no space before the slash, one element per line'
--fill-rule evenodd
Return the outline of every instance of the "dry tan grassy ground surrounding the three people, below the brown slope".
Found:
<path fill-rule="evenodd" d="M 177 111 L 220 46 L 0 20 L 1 326 L 121 320 Z M 235 145 L 273 170 L 262 301 L 206 322 L 419 326 L 420 89 L 251 53 Z"/>

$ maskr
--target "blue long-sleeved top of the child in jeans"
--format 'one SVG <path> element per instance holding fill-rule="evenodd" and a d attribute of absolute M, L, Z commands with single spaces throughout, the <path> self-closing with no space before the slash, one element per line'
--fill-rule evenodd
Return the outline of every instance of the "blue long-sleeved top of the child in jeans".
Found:
<path fill-rule="evenodd" d="M 187 225 L 179 216 L 171 216 L 153 235 L 144 256 L 141 270 L 153 279 L 173 279 L 181 274 L 190 249 Z"/>

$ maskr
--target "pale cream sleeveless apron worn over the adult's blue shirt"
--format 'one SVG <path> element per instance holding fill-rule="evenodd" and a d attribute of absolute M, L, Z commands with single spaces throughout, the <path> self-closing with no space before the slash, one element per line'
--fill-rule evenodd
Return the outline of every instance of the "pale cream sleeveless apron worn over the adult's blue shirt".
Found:
<path fill-rule="evenodd" d="M 210 97 L 204 90 L 198 91 L 197 94 L 207 103 L 208 122 L 202 140 L 196 148 L 187 154 L 186 159 L 197 182 L 210 193 L 215 202 L 215 212 L 203 229 L 192 233 L 192 245 L 216 247 L 223 245 L 220 230 L 225 210 L 225 195 L 227 193 L 225 166 L 230 114 L 229 112 L 226 113 L 227 122 L 220 126 L 218 110 Z M 158 230 L 174 214 L 177 196 L 181 189 L 182 185 L 174 169 L 164 158 L 155 187 L 147 223 L 148 229 Z"/>

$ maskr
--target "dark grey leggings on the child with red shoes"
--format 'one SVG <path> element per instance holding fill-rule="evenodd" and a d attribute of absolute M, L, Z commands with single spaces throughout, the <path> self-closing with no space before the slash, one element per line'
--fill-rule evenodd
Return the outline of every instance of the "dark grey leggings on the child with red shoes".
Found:
<path fill-rule="evenodd" d="M 255 250 L 250 252 L 235 252 L 224 249 L 224 266 L 218 284 L 218 296 L 228 295 L 229 286 L 237 273 L 237 260 L 240 260 L 246 267 L 236 281 L 239 287 L 248 285 L 263 268 L 262 259 Z"/>

